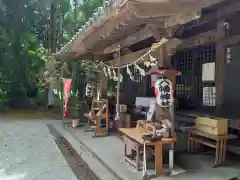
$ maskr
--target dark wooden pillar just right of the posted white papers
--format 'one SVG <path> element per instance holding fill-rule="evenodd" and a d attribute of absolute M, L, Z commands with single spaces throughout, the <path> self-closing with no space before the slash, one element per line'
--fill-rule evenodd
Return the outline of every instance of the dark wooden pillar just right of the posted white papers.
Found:
<path fill-rule="evenodd" d="M 216 66 L 215 66 L 215 85 L 216 85 L 216 108 L 221 110 L 224 100 L 224 87 L 225 87 L 225 46 L 222 39 L 225 36 L 224 21 L 218 22 L 217 26 L 217 39 L 220 40 L 216 43 Z"/>

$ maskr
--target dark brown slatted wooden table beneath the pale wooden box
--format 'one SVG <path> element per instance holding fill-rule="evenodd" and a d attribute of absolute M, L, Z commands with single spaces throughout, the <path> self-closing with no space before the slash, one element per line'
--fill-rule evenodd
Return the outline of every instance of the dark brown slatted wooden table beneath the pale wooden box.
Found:
<path fill-rule="evenodd" d="M 224 163 L 226 159 L 227 141 L 237 138 L 237 136 L 233 134 L 216 136 L 198 131 L 195 128 L 187 129 L 187 133 L 189 153 L 196 152 L 200 148 L 200 144 L 216 149 L 214 167 Z"/>

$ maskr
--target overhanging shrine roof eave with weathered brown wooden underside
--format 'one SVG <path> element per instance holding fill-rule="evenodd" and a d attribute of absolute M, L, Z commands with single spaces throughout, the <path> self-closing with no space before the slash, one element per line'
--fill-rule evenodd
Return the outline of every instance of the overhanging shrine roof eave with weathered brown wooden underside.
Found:
<path fill-rule="evenodd" d="M 106 48 L 140 31 L 152 27 L 161 31 L 176 24 L 184 24 L 199 16 L 202 8 L 223 0 L 115 0 L 118 5 L 106 9 L 105 14 L 77 33 L 70 43 L 55 53 L 58 59 L 73 60 L 85 55 L 104 54 Z M 114 2 L 115 2 L 114 1 Z M 152 32 L 152 31 L 151 31 Z M 107 50 L 109 53 L 111 50 Z"/>

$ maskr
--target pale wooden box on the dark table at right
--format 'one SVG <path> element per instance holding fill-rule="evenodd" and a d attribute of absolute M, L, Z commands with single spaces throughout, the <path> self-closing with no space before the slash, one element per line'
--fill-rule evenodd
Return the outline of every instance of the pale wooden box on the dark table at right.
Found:
<path fill-rule="evenodd" d="M 212 135 L 227 135 L 228 120 L 221 118 L 197 117 L 196 129 Z"/>

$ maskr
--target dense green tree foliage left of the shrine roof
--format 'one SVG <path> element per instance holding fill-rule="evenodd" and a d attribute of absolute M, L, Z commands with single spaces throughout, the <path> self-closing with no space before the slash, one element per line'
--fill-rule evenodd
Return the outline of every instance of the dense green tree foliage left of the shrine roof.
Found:
<path fill-rule="evenodd" d="M 0 0 L 0 104 L 23 102 L 36 94 L 52 46 L 51 5 L 56 7 L 54 31 L 60 48 L 101 3 Z"/>

